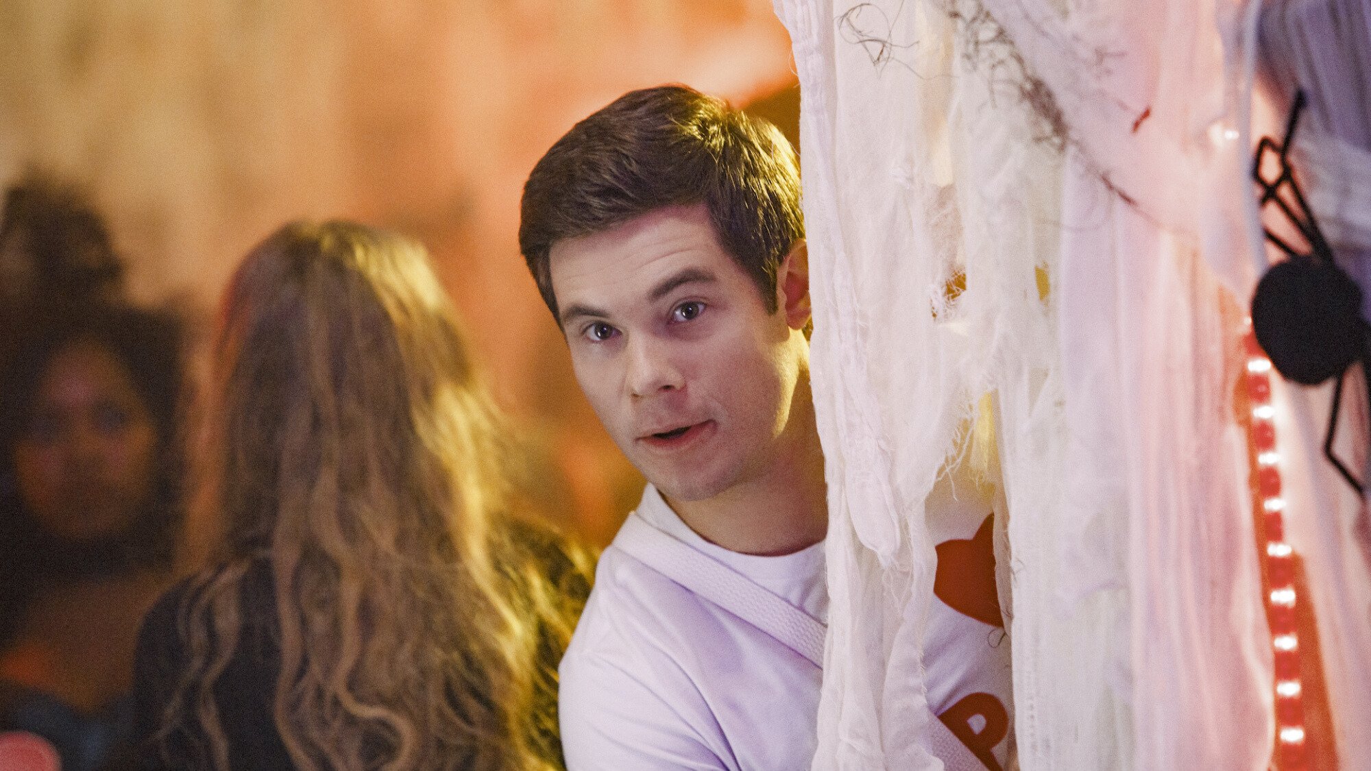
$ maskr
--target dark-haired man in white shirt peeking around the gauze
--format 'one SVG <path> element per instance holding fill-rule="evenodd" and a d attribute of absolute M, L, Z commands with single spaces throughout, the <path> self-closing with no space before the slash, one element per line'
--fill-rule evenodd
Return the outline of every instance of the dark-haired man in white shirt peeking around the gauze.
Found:
<path fill-rule="evenodd" d="M 539 161 L 520 248 L 648 480 L 561 664 L 568 767 L 808 768 L 828 516 L 794 151 L 688 88 L 627 93 Z"/>

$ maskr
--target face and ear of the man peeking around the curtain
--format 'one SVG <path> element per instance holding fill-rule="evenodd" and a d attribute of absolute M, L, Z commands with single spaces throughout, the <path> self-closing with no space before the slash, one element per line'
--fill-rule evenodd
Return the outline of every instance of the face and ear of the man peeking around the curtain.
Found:
<path fill-rule="evenodd" d="M 551 277 L 576 379 L 669 498 L 755 480 L 806 440 L 787 431 L 808 368 L 803 320 L 766 311 L 702 204 L 558 241 Z"/>

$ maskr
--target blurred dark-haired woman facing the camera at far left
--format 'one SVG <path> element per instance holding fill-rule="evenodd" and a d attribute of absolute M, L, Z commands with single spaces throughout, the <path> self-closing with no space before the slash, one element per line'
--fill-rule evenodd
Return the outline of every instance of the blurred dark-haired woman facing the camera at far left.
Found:
<path fill-rule="evenodd" d="M 182 328 L 95 302 L 7 333 L 0 731 L 48 739 L 67 771 L 117 766 L 138 619 L 169 584 L 180 521 Z"/>

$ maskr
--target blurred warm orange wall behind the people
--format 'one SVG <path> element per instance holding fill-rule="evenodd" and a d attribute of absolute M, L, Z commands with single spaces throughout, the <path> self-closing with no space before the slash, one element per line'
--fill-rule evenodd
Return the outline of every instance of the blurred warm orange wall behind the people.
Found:
<path fill-rule="evenodd" d="M 5 0 L 0 180 L 86 182 L 154 300 L 208 305 L 288 218 L 422 239 L 573 490 L 568 516 L 605 541 L 638 480 L 526 276 L 520 188 L 618 93 L 681 81 L 747 103 L 792 81 L 788 45 L 769 0 Z"/>

